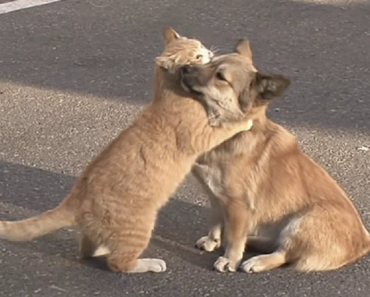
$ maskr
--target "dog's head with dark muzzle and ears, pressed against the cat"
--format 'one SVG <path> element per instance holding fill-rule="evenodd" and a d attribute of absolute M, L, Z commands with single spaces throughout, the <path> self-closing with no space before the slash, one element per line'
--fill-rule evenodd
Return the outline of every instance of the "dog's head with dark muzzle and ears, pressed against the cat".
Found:
<path fill-rule="evenodd" d="M 207 105 L 224 109 L 238 106 L 244 115 L 255 107 L 266 106 L 279 97 L 290 80 L 282 75 L 266 75 L 253 65 L 252 51 L 247 40 L 240 40 L 235 53 L 218 56 L 205 65 L 183 66 L 181 82 L 185 90 L 196 94 Z"/>

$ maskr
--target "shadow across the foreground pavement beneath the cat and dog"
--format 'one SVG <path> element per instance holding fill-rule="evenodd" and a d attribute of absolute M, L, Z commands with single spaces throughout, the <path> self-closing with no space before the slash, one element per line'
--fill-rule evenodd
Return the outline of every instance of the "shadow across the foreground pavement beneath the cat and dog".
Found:
<path fill-rule="evenodd" d="M 0 218 L 22 219 L 54 207 L 73 181 L 72 176 L 0 162 Z M 202 254 L 193 248 L 204 235 L 207 213 L 204 207 L 179 200 L 170 201 L 161 211 L 151 245 L 144 253 L 166 260 L 168 271 L 160 275 L 106 273 L 104 261 L 80 264 L 75 234 L 68 230 L 28 243 L 0 241 L 2 271 L 6 271 L 0 281 L 7 284 L 3 293 L 26 296 L 24 290 L 42 289 L 42 296 L 60 296 L 61 292 L 62 296 L 83 296 L 81 290 L 86 296 L 108 297 L 143 294 L 138 291 L 150 296 L 174 296 L 174 292 L 176 296 L 206 296 L 211 292 L 210 296 L 220 297 L 226 292 L 232 296 L 368 296 L 369 257 L 328 273 L 277 269 L 246 275 L 212 271 L 220 253 Z"/>

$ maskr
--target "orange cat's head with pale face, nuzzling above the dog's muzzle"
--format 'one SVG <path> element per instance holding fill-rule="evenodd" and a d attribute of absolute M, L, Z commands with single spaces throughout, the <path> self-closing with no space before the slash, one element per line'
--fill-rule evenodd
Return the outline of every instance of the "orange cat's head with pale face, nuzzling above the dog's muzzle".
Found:
<path fill-rule="evenodd" d="M 199 40 L 180 36 L 172 28 L 165 28 L 163 35 L 165 48 L 155 59 L 159 67 L 171 71 L 175 66 L 207 64 L 214 56 Z"/>

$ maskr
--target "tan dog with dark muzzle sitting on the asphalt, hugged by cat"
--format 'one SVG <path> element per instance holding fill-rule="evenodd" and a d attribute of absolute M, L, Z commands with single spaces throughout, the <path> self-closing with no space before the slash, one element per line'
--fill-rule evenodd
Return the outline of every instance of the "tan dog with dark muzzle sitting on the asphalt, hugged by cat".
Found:
<path fill-rule="evenodd" d="M 194 166 L 212 206 L 209 234 L 196 245 L 215 250 L 224 229 L 226 251 L 214 265 L 219 271 L 238 268 L 247 242 L 265 255 L 245 261 L 245 272 L 285 263 L 303 271 L 331 270 L 363 256 L 370 250 L 369 233 L 345 192 L 299 149 L 292 134 L 266 118 L 268 103 L 289 81 L 259 73 L 247 41 L 236 51 L 191 67 L 183 77 L 202 99 L 238 100 L 253 119 L 250 132 L 208 152 Z"/>

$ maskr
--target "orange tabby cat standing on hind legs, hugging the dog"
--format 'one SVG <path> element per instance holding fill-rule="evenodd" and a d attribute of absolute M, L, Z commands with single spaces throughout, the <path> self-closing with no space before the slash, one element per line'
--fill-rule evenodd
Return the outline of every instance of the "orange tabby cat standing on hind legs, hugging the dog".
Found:
<path fill-rule="evenodd" d="M 240 112 L 238 122 L 209 125 L 205 109 L 182 89 L 180 72 L 172 68 L 208 62 L 211 54 L 172 29 L 164 35 L 165 50 L 156 60 L 164 66 L 157 66 L 152 103 L 92 161 L 59 206 L 27 220 L 0 221 L 0 238 L 32 240 L 77 225 L 82 257 L 107 253 L 113 271 L 166 270 L 163 260 L 138 259 L 158 210 L 201 154 L 251 125 Z M 237 101 L 228 104 L 238 109 Z"/>

